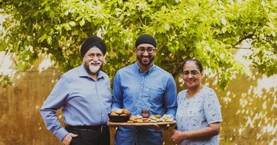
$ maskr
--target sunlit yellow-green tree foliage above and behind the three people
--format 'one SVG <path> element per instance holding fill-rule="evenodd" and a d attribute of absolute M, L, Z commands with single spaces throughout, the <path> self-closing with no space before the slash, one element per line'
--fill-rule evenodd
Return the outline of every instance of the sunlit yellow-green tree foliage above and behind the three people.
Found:
<path fill-rule="evenodd" d="M 277 72 L 277 1 L 213 0 L 13 0 L 1 1 L 6 19 L 0 50 L 15 53 L 20 70 L 39 53 L 69 70 L 81 63 L 80 44 L 99 35 L 107 44 L 104 70 L 110 77 L 134 62 L 134 41 L 148 33 L 157 39 L 155 63 L 175 77 L 185 57 L 217 72 L 224 87 L 249 66 L 234 50 L 250 41 L 251 66 L 268 76 Z"/>

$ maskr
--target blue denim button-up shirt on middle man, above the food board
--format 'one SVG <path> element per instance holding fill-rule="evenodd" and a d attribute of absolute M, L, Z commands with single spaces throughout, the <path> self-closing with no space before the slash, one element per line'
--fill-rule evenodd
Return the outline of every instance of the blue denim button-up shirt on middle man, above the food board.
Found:
<path fill-rule="evenodd" d="M 175 117 L 177 89 L 170 73 L 153 65 L 142 72 L 137 63 L 122 68 L 114 77 L 114 108 L 128 108 L 132 115 L 141 115 L 141 110 L 150 110 L 150 115 L 166 113 Z"/>

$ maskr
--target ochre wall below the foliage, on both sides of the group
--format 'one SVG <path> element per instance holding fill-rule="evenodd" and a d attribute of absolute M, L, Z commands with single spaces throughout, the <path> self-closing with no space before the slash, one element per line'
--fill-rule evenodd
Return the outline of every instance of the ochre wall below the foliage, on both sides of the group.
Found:
<path fill-rule="evenodd" d="M 0 64 L 0 72 L 3 65 Z M 16 71 L 15 67 L 10 68 Z M 42 71 L 35 68 L 38 65 L 15 73 L 13 85 L 0 88 L 0 145 L 62 144 L 46 130 L 39 115 L 58 72 L 55 68 Z M 277 75 L 236 78 L 226 90 L 217 88 L 215 81 L 216 77 L 206 77 L 205 84 L 215 90 L 222 105 L 220 144 L 277 144 Z M 178 92 L 184 89 L 181 84 L 177 86 Z M 60 110 L 58 114 L 61 119 Z M 112 137 L 114 131 L 111 128 Z M 165 144 L 170 144 L 170 133 L 164 134 Z"/>

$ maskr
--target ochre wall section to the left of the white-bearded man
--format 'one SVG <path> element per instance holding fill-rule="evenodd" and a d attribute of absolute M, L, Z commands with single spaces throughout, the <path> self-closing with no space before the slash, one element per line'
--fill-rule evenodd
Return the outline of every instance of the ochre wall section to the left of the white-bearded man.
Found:
<path fill-rule="evenodd" d="M 0 145 L 59 143 L 39 115 L 56 78 L 51 69 L 28 70 L 15 75 L 13 86 L 0 88 Z"/>

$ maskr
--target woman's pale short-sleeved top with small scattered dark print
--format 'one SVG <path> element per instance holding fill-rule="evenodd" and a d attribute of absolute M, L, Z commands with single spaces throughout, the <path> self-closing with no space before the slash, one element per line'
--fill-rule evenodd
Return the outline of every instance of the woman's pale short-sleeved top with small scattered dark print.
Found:
<path fill-rule="evenodd" d="M 213 89 L 204 86 L 200 92 L 192 98 L 186 98 L 188 90 L 182 90 L 177 96 L 177 129 L 179 131 L 195 131 L 205 128 L 208 124 L 222 122 L 220 101 Z M 209 139 L 186 139 L 181 145 L 216 145 L 219 144 L 219 135 Z"/>

